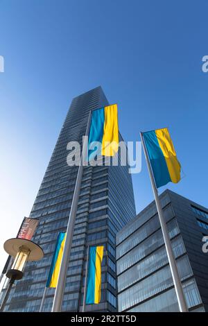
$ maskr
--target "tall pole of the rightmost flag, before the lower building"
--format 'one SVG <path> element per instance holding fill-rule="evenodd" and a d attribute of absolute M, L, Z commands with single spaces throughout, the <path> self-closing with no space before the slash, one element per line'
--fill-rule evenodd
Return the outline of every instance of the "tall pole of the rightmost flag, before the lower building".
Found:
<path fill-rule="evenodd" d="M 173 255 L 173 249 L 171 247 L 171 240 L 169 238 L 166 223 L 164 221 L 164 214 L 162 212 L 162 206 L 161 206 L 161 203 L 159 201 L 157 187 L 155 185 L 155 179 L 154 179 L 154 176 L 153 176 L 153 171 L 152 171 L 152 168 L 151 168 L 151 165 L 150 165 L 150 160 L 149 160 L 149 157 L 148 157 L 148 151 L 146 149 L 146 145 L 145 145 L 145 141 L 144 141 L 142 132 L 140 132 L 140 137 L 141 137 L 142 146 L 144 148 L 144 155 L 145 155 L 146 163 L 147 163 L 147 166 L 148 166 L 148 173 L 150 175 L 150 181 L 151 181 L 151 185 L 152 185 L 152 188 L 153 188 L 153 194 L 155 196 L 155 203 L 156 203 L 156 206 L 157 206 L 159 222 L 160 222 L 160 225 L 161 225 L 161 228 L 162 228 L 162 234 L 163 234 L 164 243 L 165 243 L 165 246 L 166 246 L 168 262 L 169 262 L 169 265 L 170 265 L 170 268 L 171 268 L 171 275 L 173 277 L 173 284 L 175 286 L 175 292 L 176 292 L 176 295 L 177 295 L 177 302 L 178 302 L 178 305 L 179 305 L 179 308 L 180 308 L 180 312 L 188 312 L 189 310 L 187 308 L 187 303 L 186 303 L 186 300 L 184 298 L 184 293 L 183 293 L 183 290 L 182 290 L 182 284 L 180 282 L 180 276 L 179 276 L 178 271 L 177 271 L 177 265 L 176 265 L 176 262 L 175 262 L 175 257 Z"/>

